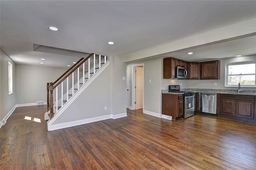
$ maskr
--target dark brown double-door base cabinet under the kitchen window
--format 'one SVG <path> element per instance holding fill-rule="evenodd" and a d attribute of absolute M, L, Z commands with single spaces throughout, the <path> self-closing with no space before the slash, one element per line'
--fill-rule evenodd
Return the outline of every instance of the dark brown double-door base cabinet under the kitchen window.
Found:
<path fill-rule="evenodd" d="M 217 113 L 220 116 L 241 121 L 256 122 L 255 98 L 252 95 L 219 94 L 217 96 Z"/>

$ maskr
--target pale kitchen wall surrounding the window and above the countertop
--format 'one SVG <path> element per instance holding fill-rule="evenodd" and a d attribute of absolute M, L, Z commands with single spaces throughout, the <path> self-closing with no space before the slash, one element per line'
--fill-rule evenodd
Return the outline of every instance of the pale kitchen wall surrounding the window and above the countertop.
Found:
<path fill-rule="evenodd" d="M 196 89 L 237 89 L 236 87 L 225 86 L 225 65 L 226 63 L 242 62 L 242 61 L 256 61 L 256 55 L 248 55 L 242 57 L 232 57 L 220 59 L 220 80 L 189 80 L 188 88 Z M 214 86 L 214 82 L 217 86 Z M 256 90 L 256 88 L 244 88 L 245 90 Z"/>

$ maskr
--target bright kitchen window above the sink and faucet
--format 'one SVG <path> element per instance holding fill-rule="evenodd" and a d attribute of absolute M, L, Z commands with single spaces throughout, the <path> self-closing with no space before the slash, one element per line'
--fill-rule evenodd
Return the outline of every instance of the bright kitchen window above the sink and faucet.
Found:
<path fill-rule="evenodd" d="M 226 64 L 225 87 L 256 87 L 256 61 Z"/>

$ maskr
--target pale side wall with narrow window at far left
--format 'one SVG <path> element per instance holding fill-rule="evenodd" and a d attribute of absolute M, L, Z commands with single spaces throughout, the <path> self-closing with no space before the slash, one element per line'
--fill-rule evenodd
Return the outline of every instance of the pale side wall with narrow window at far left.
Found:
<path fill-rule="evenodd" d="M 13 93 L 9 95 L 8 86 L 8 62 L 12 63 L 13 77 Z M 8 55 L 0 50 L 0 121 L 11 111 L 16 105 L 16 90 L 15 90 L 15 69 L 16 64 L 8 57 Z"/>

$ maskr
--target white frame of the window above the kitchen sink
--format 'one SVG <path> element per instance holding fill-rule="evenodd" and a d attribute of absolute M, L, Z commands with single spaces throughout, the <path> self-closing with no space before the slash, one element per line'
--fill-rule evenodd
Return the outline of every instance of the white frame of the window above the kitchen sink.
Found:
<path fill-rule="evenodd" d="M 255 76 L 255 85 L 241 85 L 241 87 L 256 87 L 256 61 L 242 61 L 242 62 L 235 62 L 235 63 L 226 63 L 226 65 L 225 65 L 225 87 L 238 87 L 238 85 L 228 85 L 228 66 L 244 65 L 244 64 L 255 64 L 254 74 L 242 74 L 242 75 L 254 75 Z"/>

